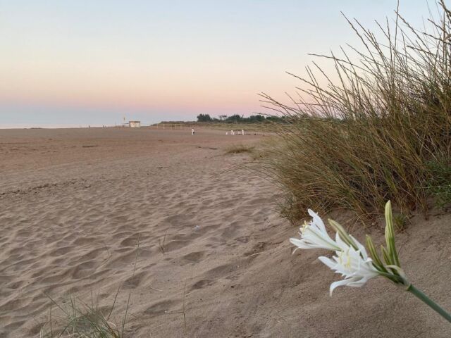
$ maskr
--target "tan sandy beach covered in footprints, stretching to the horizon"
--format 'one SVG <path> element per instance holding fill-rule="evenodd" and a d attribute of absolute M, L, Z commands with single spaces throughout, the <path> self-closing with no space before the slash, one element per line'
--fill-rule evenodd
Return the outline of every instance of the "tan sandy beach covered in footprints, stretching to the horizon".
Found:
<path fill-rule="evenodd" d="M 249 154 L 225 154 L 262 138 L 0 130 L 0 337 L 39 337 L 49 296 L 94 294 L 108 311 L 118 289 L 112 321 L 130 296 L 127 337 L 450 337 L 385 280 L 330 298 L 338 276 L 324 252 L 292 255 L 297 229 L 279 217 L 277 189 L 237 168 Z M 450 224 L 416 216 L 397 234 L 407 275 L 448 310 Z"/>

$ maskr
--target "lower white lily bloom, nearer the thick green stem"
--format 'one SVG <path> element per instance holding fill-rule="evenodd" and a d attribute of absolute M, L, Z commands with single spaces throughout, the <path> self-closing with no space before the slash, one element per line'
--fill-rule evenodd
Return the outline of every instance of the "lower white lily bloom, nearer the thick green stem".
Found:
<path fill-rule="evenodd" d="M 352 239 L 354 239 L 352 237 Z M 366 250 L 362 244 L 354 239 L 358 250 L 347 245 L 336 235 L 335 242 L 340 246 L 340 251 L 335 251 L 336 256 L 333 259 L 321 256 L 319 260 L 326 264 L 335 273 L 340 273 L 344 280 L 333 282 L 330 284 L 330 296 L 336 287 L 345 285 L 347 287 L 362 287 L 369 279 L 379 275 L 378 270 L 374 268 L 373 261 L 368 257 Z"/>

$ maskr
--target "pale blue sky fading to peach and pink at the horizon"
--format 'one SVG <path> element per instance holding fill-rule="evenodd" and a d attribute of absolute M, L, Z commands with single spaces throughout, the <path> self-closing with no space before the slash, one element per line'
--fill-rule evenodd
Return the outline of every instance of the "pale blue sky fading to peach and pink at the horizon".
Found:
<path fill-rule="evenodd" d="M 360 46 L 397 0 L 0 0 L 0 127 L 266 113 L 313 56 Z M 435 2 L 429 6 L 436 13 Z M 435 12 L 434 12 L 435 11 Z M 400 0 L 416 27 L 425 0 Z M 330 63 L 324 63 L 333 73 Z"/>

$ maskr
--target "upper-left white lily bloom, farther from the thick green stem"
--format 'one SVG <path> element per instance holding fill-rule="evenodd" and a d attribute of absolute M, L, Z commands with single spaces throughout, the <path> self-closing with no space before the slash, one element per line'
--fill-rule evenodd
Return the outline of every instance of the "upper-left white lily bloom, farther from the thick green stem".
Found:
<path fill-rule="evenodd" d="M 312 220 L 309 223 L 304 223 L 300 228 L 301 239 L 290 238 L 290 242 L 297 246 L 295 251 L 297 249 L 340 250 L 340 246 L 330 238 L 319 215 L 310 209 L 309 215 L 311 215 Z"/>

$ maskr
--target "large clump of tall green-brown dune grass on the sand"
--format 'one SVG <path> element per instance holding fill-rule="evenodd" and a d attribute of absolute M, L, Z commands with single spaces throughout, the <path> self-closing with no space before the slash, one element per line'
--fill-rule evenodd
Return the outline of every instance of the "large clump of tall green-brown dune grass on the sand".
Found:
<path fill-rule="evenodd" d="M 451 12 L 443 2 L 439 12 L 427 31 L 398 11 L 378 34 L 346 18 L 362 46 L 319 56 L 335 74 L 313 63 L 307 77 L 293 75 L 302 88 L 290 104 L 261 94 L 290 121 L 261 162 L 286 193 L 283 215 L 345 208 L 371 218 L 389 199 L 405 215 L 427 213 L 434 191 L 447 197 L 443 182 L 432 188 L 451 149 Z"/>

